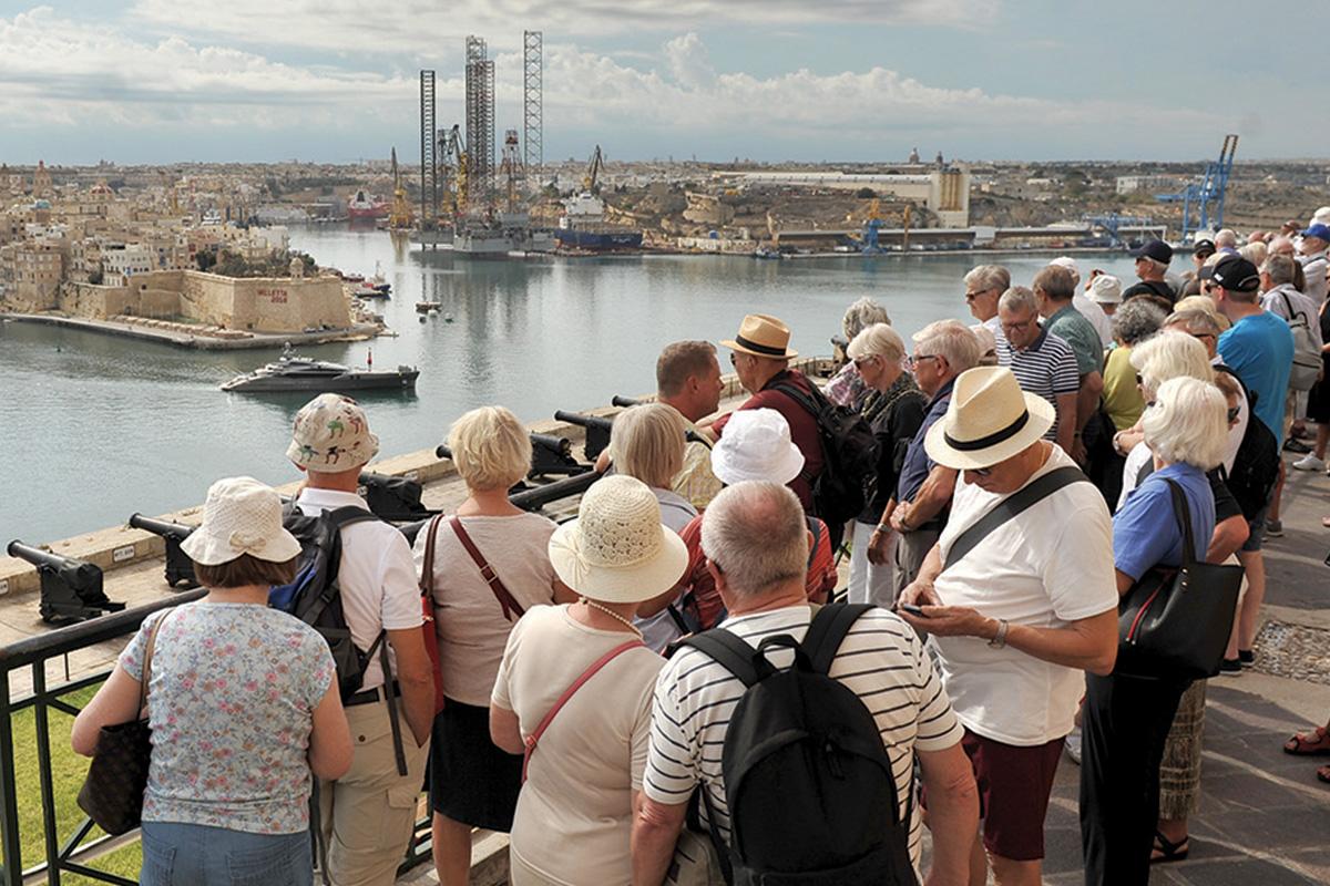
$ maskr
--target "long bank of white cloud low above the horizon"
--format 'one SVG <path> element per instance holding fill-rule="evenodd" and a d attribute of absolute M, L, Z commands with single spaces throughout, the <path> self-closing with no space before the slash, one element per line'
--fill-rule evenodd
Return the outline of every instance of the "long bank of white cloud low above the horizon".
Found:
<path fill-rule="evenodd" d="M 708 4 L 684 3 L 700 5 Z M 782 5 L 789 4 L 775 8 Z M 351 53 L 344 66 L 283 62 L 217 41 L 130 33 L 39 8 L 0 19 L 0 141 L 5 130 L 19 129 L 113 126 L 120 134 L 141 129 L 148 141 L 182 129 L 197 135 L 258 128 L 271 143 L 290 142 L 283 154 L 344 157 L 330 139 L 351 130 L 358 145 L 391 137 L 400 146 L 415 130 L 415 73 L 364 70 L 379 60 L 368 46 L 360 54 L 363 61 Z M 497 53 L 496 70 L 501 132 L 520 124 L 520 52 Z M 705 157 L 724 145 L 721 153 L 843 158 L 880 155 L 880 145 L 908 139 L 948 146 L 948 154 L 1003 154 L 1003 145 L 1015 143 L 1040 145 L 1044 157 L 1103 157 L 1124 153 L 1117 145 L 1132 153 L 1124 142 L 1132 132 L 1152 133 L 1146 153 L 1158 154 L 1198 135 L 1208 143 L 1208 134 L 1224 132 L 1225 124 L 1185 106 L 938 88 L 882 66 L 833 74 L 802 68 L 765 77 L 720 73 L 693 31 L 665 40 L 654 66 L 548 44 L 544 82 L 551 154 L 580 154 L 600 141 L 622 145 L 620 157 L 685 150 Z M 460 77 L 440 81 L 443 125 L 460 116 L 462 92 Z"/>

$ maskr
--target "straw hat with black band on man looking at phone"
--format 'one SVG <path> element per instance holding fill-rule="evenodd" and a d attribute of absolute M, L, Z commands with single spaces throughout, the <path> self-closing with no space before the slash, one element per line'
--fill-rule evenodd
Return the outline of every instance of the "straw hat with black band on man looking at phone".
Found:
<path fill-rule="evenodd" d="M 956 377 L 947 414 L 928 429 L 924 450 L 946 468 L 991 468 L 1040 440 L 1055 417 L 1053 405 L 1021 391 L 1011 369 L 975 367 Z"/>

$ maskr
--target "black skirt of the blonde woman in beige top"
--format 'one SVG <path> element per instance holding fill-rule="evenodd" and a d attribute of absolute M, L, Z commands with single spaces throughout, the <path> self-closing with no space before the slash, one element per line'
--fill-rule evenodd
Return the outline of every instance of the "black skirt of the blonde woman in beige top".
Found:
<path fill-rule="evenodd" d="M 521 790 L 521 754 L 489 740 L 489 708 L 448 699 L 434 719 L 430 806 L 454 821 L 508 833 Z"/>

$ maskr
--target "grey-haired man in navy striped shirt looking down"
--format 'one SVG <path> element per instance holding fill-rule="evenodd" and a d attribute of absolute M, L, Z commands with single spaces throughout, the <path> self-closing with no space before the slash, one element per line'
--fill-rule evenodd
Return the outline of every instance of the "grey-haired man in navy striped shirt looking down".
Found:
<path fill-rule="evenodd" d="M 998 340 L 998 365 L 1007 367 L 1021 391 L 1037 393 L 1057 410 L 1044 434 L 1071 454 L 1076 440 L 1076 395 L 1080 373 L 1076 355 L 1061 337 L 1039 325 L 1033 291 L 1015 286 L 998 300 L 1003 337 Z"/>

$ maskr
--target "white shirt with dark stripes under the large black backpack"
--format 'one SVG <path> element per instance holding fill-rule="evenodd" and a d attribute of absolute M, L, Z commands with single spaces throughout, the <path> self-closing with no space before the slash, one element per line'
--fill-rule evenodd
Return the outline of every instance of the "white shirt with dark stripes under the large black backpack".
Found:
<path fill-rule="evenodd" d="M 787 606 L 733 616 L 721 626 L 757 647 L 763 638 L 777 634 L 802 640 L 811 612 L 810 606 Z M 770 662 L 787 667 L 793 651 L 773 650 Z M 944 751 L 963 735 L 923 644 L 895 614 L 874 608 L 850 628 L 829 673 L 859 696 L 878 724 L 904 818 L 914 777 L 914 751 Z M 721 748 L 742 696 L 743 684 L 738 677 L 705 652 L 681 648 L 656 684 L 652 744 L 642 778 L 646 796 L 669 805 L 686 801 L 697 784 L 704 784 L 725 840 L 730 836 L 730 814 Z M 915 865 L 919 863 L 919 805 L 915 804 L 910 822 L 910 855 Z"/>

